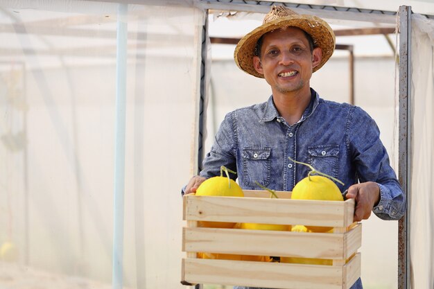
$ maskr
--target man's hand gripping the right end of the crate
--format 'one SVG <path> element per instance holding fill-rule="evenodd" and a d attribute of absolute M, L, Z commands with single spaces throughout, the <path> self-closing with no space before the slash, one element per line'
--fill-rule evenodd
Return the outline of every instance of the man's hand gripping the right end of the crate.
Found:
<path fill-rule="evenodd" d="M 354 222 L 367 220 L 372 208 L 380 201 L 379 185 L 374 182 L 354 184 L 348 188 L 347 198 L 356 200 Z"/>

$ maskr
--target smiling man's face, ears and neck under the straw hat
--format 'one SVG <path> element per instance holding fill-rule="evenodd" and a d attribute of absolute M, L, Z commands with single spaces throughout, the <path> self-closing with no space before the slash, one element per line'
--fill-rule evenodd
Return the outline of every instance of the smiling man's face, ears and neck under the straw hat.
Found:
<path fill-rule="evenodd" d="M 321 49 L 313 48 L 308 37 L 295 27 L 266 33 L 253 57 L 254 69 L 270 85 L 277 111 L 290 125 L 301 119 L 311 101 L 309 80 L 322 59 Z"/>

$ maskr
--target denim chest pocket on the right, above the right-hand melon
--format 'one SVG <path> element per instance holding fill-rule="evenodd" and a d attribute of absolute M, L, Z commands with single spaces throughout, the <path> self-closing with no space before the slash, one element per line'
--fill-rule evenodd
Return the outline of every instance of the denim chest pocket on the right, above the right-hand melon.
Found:
<path fill-rule="evenodd" d="M 338 178 L 339 145 L 309 146 L 309 164 L 321 173 Z"/>

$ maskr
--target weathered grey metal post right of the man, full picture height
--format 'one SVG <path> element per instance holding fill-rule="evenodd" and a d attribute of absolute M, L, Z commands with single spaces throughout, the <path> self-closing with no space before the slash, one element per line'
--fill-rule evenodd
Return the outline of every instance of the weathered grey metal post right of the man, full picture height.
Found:
<path fill-rule="evenodd" d="M 399 7 L 399 182 L 407 200 L 399 220 L 398 288 L 410 289 L 410 160 L 411 160 L 411 7 Z"/>

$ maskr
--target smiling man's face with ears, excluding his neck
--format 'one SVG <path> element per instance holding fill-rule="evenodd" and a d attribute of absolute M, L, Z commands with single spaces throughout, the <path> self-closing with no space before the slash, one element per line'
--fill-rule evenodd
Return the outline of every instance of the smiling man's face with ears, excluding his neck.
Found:
<path fill-rule="evenodd" d="M 254 68 L 275 91 L 282 94 L 309 89 L 313 68 L 321 62 L 321 49 L 311 52 L 303 30 L 288 27 L 263 35 L 260 57 L 254 56 Z"/>

